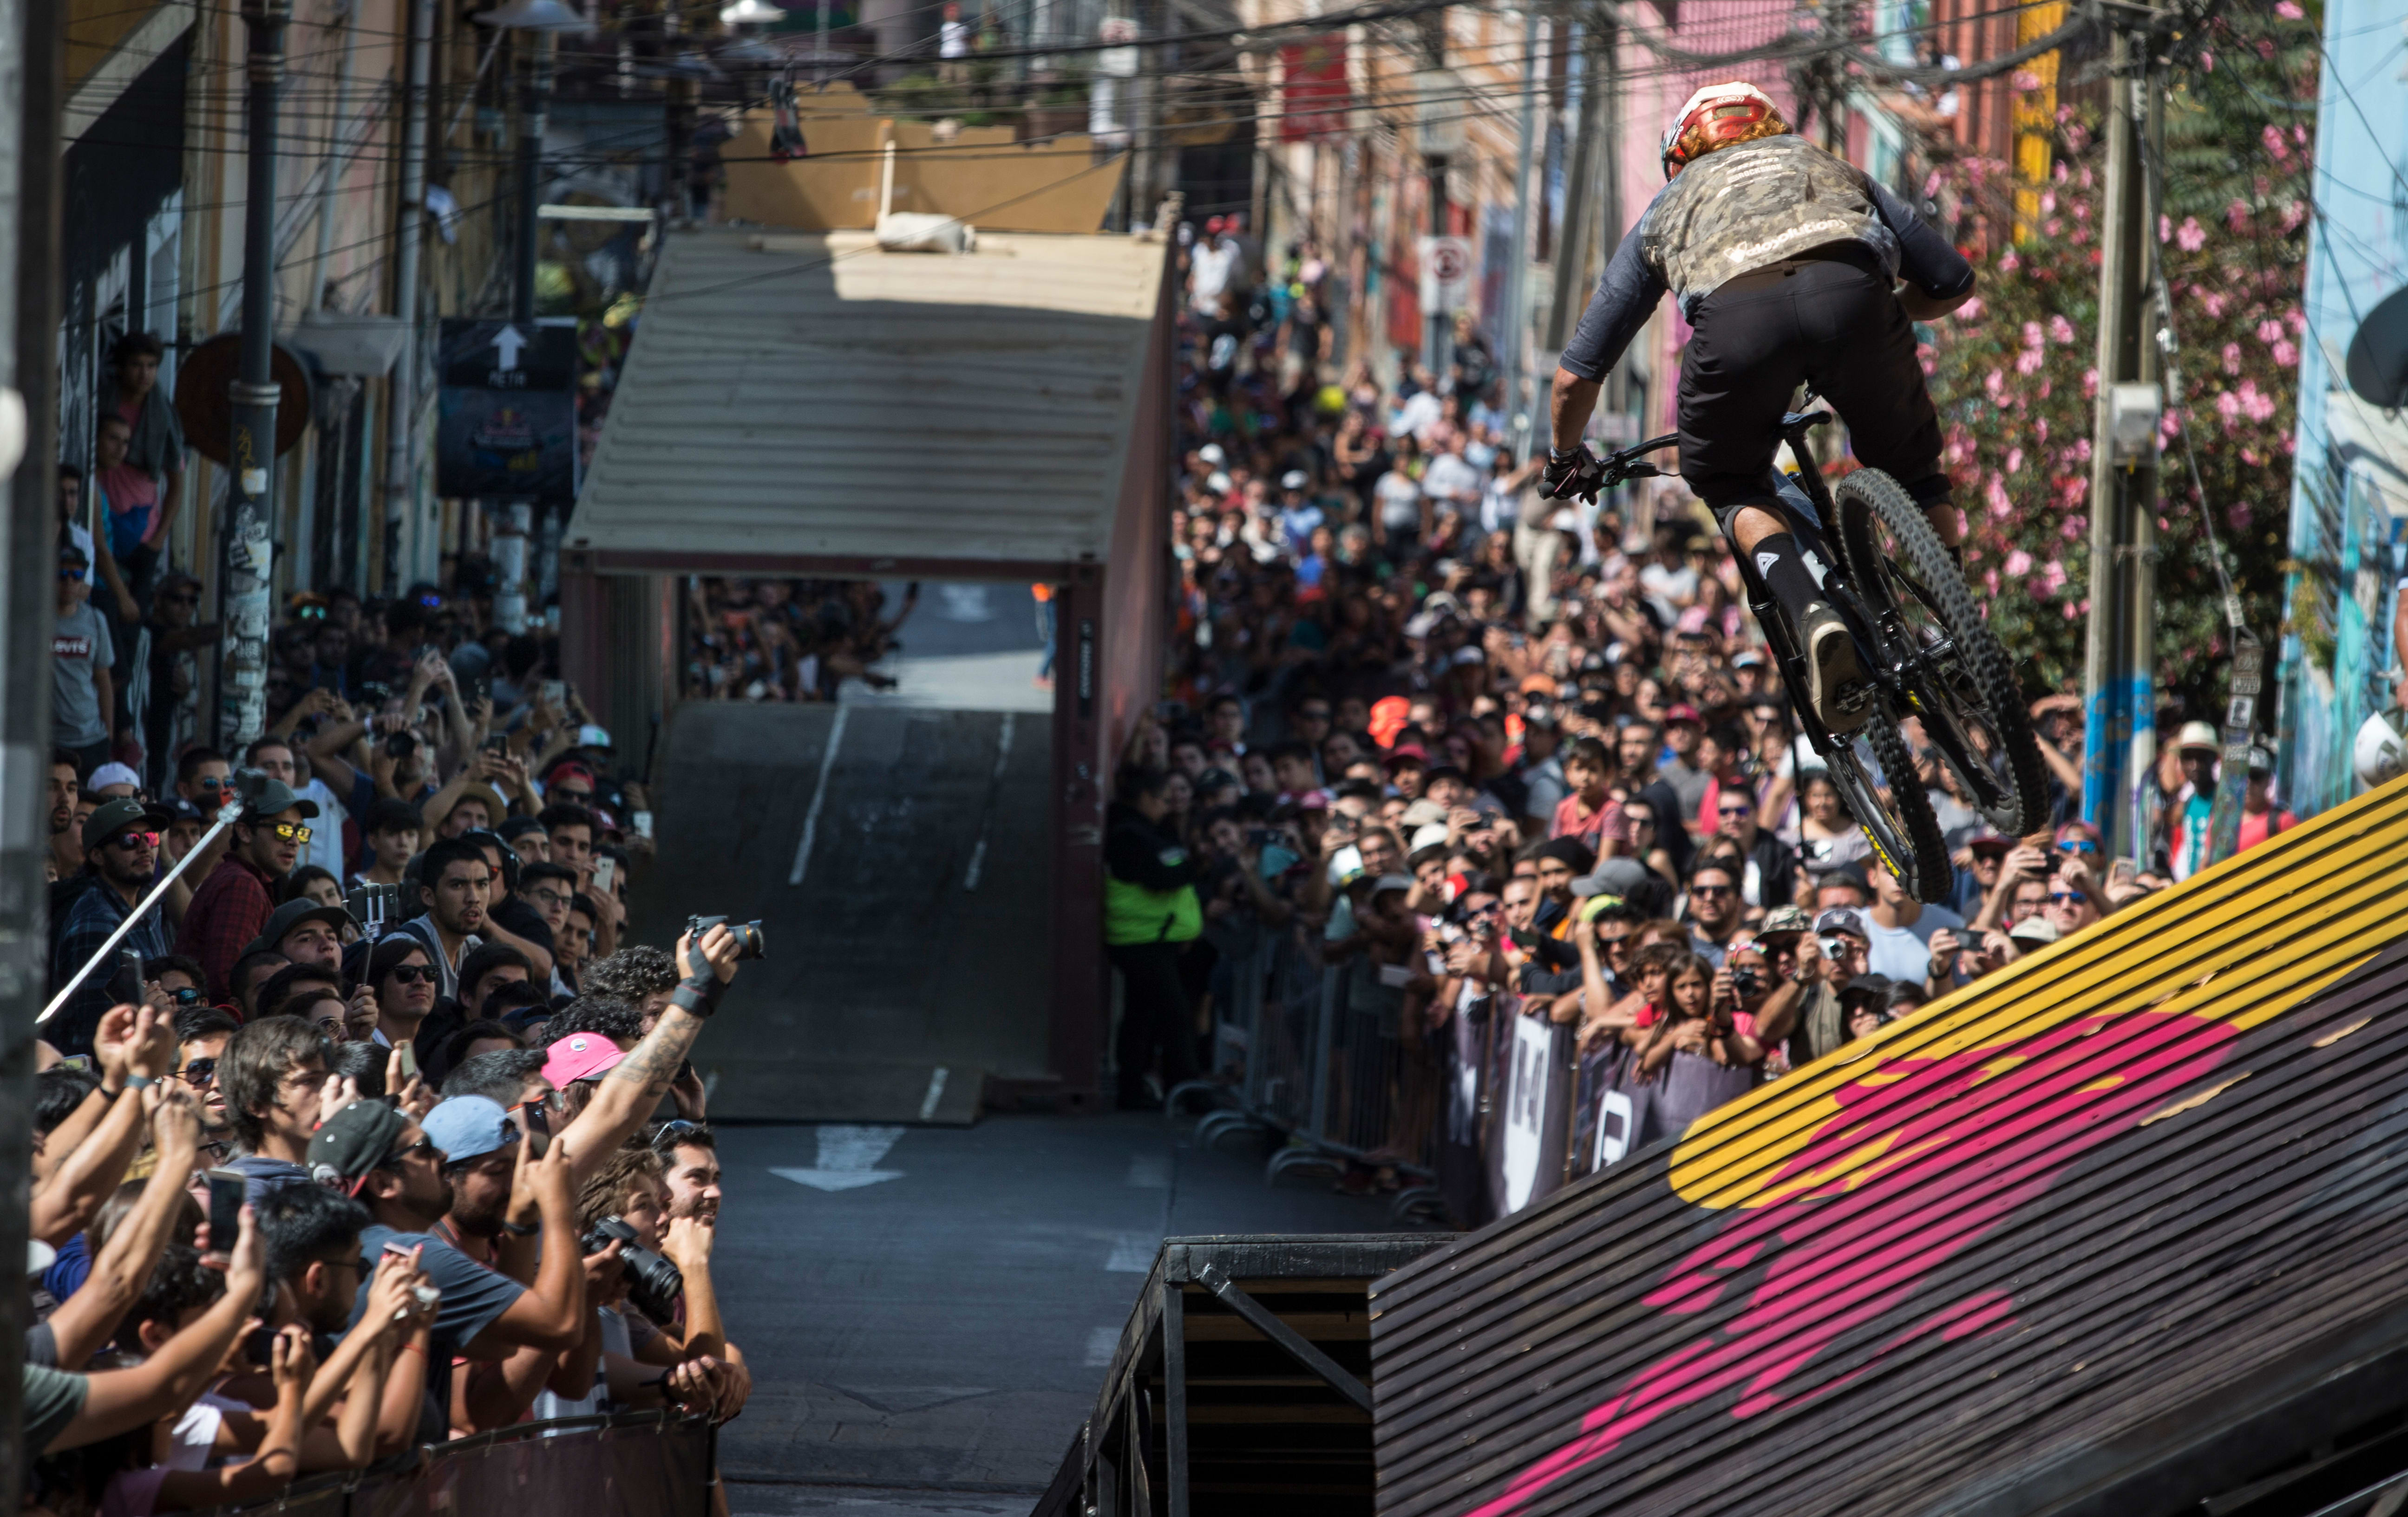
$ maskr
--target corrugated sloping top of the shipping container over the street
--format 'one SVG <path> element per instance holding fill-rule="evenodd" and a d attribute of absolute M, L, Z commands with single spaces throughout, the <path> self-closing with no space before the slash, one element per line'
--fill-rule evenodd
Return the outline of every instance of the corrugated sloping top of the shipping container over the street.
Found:
<path fill-rule="evenodd" d="M 1163 253 L 672 234 L 563 544 L 602 571 L 1103 563 Z"/>

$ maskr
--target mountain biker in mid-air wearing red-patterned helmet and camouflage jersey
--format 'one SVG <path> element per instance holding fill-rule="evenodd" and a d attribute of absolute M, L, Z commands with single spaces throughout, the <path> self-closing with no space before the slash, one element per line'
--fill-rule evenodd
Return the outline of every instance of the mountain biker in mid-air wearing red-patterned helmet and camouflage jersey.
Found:
<path fill-rule="evenodd" d="M 1895 477 L 1955 547 L 1938 414 L 1910 323 L 1970 301 L 1972 265 L 1861 169 L 1794 135 L 1753 84 L 1710 84 L 1681 106 L 1664 132 L 1664 178 L 1563 349 L 1541 491 L 1597 491 L 1601 465 L 1580 433 L 1606 371 L 1671 291 L 1690 323 L 1681 479 L 1753 554 L 1796 626 L 1813 686 L 1804 693 L 1823 725 L 1854 732 L 1871 710 L 1854 689 L 1866 681 L 1857 641 L 1820 595 L 1828 566 L 1770 510 L 1780 419 L 1811 380 L 1857 460 Z M 1895 294 L 1893 279 L 1905 279 Z"/>

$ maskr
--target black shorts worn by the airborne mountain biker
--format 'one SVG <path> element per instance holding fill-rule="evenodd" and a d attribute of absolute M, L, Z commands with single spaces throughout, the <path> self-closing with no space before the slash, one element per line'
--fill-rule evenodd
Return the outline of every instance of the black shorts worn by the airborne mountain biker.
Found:
<path fill-rule="evenodd" d="M 1698 303 L 1681 354 L 1681 479 L 1727 518 L 1772 501 L 1772 453 L 1799 383 L 1847 421 L 1857 460 L 1934 506 L 1948 496 L 1941 421 L 1914 325 L 1871 253 L 1796 258 Z"/>

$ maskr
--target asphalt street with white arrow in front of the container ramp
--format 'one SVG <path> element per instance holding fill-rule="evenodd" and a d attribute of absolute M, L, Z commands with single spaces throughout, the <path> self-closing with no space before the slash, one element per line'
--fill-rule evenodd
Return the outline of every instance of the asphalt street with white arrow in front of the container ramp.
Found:
<path fill-rule="evenodd" d="M 1165 1235 L 1385 1233 L 1158 1115 L 732 1127 L 713 1274 L 754 1399 L 739 1517 L 1026 1512 L 1093 1406 Z"/>

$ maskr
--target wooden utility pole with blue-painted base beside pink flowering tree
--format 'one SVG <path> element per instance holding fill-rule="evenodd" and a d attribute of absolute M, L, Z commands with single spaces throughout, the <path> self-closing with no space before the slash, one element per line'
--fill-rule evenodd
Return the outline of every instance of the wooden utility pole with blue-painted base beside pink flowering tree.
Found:
<path fill-rule="evenodd" d="M 2102 857 L 2141 857 L 2158 758 L 2158 349 L 2148 327 L 2143 132 L 2162 132 L 2143 34 L 2117 31 L 2100 200 L 2097 412 L 2090 438 L 2090 638 L 2083 819 Z"/>

